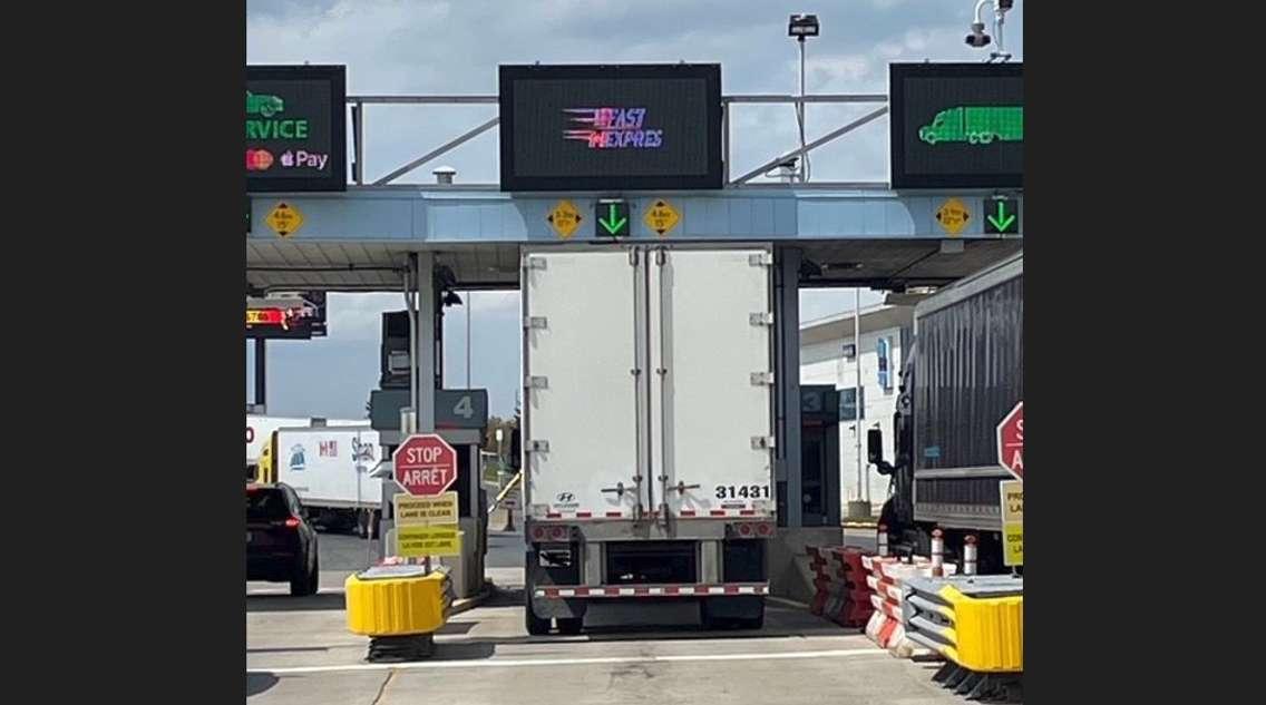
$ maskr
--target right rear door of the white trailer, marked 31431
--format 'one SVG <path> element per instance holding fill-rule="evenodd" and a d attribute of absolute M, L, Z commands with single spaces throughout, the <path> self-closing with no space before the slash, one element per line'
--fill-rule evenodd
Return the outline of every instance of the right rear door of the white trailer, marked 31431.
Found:
<path fill-rule="evenodd" d="M 768 516 L 768 251 L 663 248 L 648 259 L 655 506 L 682 518 Z"/>

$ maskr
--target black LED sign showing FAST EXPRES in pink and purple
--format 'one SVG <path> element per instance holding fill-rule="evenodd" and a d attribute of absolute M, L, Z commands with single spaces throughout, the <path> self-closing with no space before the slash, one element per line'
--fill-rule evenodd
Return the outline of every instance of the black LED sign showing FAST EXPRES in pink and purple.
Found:
<path fill-rule="evenodd" d="M 501 66 L 503 191 L 720 189 L 720 66 Z"/>

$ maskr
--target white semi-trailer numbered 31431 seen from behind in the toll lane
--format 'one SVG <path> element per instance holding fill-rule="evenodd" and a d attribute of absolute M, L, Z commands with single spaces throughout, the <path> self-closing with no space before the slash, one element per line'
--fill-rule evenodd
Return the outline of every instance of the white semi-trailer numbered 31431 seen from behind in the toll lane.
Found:
<path fill-rule="evenodd" d="M 775 530 L 767 247 L 523 261 L 527 628 L 691 600 L 758 628 Z"/>

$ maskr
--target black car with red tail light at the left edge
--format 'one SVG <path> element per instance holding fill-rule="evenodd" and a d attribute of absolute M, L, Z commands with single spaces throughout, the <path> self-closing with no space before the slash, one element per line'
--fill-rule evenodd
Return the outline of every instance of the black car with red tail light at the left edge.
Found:
<path fill-rule="evenodd" d="M 291 595 L 315 595 L 316 530 L 287 485 L 246 486 L 246 578 L 289 582 Z"/>

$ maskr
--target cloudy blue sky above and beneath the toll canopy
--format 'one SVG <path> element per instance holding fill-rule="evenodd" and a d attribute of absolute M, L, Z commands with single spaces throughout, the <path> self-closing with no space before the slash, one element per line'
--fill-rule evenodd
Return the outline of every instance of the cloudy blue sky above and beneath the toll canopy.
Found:
<path fill-rule="evenodd" d="M 822 35 L 808 46 L 809 92 L 886 92 L 891 61 L 981 61 L 963 43 L 972 0 L 249 0 L 248 63 L 342 63 L 349 94 L 495 94 L 499 63 L 719 62 L 723 91 L 795 92 L 799 53 L 787 15 L 814 13 Z M 1024 3 L 1006 16 L 1006 49 L 1023 58 Z M 810 106 L 809 139 L 858 116 L 862 106 Z M 377 178 L 491 118 L 495 106 L 375 106 L 368 113 L 367 176 Z M 733 172 L 798 143 L 790 106 L 736 113 Z M 822 180 L 884 181 L 887 122 L 876 120 L 813 153 Z M 442 161 L 458 181 L 496 181 L 496 132 Z M 417 178 L 429 178 L 439 162 Z M 465 299 L 465 296 L 463 296 Z M 880 300 L 863 292 L 862 305 Z M 518 292 L 475 292 L 471 384 L 491 413 L 514 408 L 519 380 Z M 801 318 L 851 310 L 852 290 L 801 295 Z M 360 418 L 377 382 L 379 314 L 399 294 L 332 294 L 325 339 L 268 343 L 268 410 Z M 465 306 L 444 321 L 446 386 L 465 386 Z M 247 344 L 247 399 L 253 352 Z"/>

